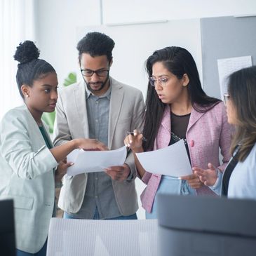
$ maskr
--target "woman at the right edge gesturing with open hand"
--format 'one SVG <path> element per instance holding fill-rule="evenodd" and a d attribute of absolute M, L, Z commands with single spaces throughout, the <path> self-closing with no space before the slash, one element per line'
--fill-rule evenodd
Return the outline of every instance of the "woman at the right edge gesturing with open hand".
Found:
<path fill-rule="evenodd" d="M 222 196 L 256 199 L 256 66 L 229 76 L 224 94 L 228 122 L 236 127 L 232 158 L 224 173 L 195 168 L 201 181 Z"/>

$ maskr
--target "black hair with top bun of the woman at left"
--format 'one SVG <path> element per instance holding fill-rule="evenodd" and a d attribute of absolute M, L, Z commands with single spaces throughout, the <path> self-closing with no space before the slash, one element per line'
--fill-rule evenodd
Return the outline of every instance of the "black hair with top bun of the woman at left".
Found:
<path fill-rule="evenodd" d="M 55 72 L 55 69 L 45 60 L 39 59 L 40 51 L 32 41 L 24 41 L 17 46 L 14 60 L 20 62 L 16 74 L 16 81 L 20 95 L 24 98 L 21 91 L 23 84 L 32 87 L 36 79 L 41 79 L 49 72 Z"/>

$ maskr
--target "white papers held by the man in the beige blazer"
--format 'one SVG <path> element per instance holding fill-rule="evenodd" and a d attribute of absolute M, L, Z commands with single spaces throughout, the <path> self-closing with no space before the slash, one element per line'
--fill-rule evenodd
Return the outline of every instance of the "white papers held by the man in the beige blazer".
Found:
<path fill-rule="evenodd" d="M 74 163 L 74 166 L 67 168 L 67 175 L 103 172 L 110 166 L 123 166 L 126 154 L 126 146 L 109 151 L 74 149 L 67 156 L 67 161 Z"/>

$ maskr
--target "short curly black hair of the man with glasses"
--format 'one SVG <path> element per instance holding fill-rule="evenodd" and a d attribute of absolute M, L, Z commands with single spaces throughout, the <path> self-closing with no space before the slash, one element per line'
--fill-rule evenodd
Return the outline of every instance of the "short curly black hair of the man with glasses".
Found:
<path fill-rule="evenodd" d="M 83 53 L 89 53 L 92 57 L 107 55 L 109 62 L 112 61 L 113 48 L 113 39 L 100 32 L 90 32 L 86 34 L 76 46 L 76 49 L 79 50 L 79 60 L 81 60 Z"/>

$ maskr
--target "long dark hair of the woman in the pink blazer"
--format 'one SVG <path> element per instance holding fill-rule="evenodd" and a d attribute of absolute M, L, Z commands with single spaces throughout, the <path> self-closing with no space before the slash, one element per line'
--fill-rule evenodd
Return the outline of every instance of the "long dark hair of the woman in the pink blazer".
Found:
<path fill-rule="evenodd" d="M 183 75 L 187 74 L 189 77 L 187 86 L 189 98 L 197 112 L 207 112 L 220 102 L 214 97 L 209 97 L 203 91 L 196 62 L 188 50 L 177 46 L 156 50 L 146 61 L 146 69 L 149 76 L 152 75 L 152 67 L 156 62 L 162 62 L 169 72 L 177 76 L 177 79 L 182 79 Z M 156 90 L 148 83 L 143 131 L 144 137 L 147 137 L 148 140 L 143 143 L 144 150 L 153 149 L 165 107 L 166 104 L 159 100 Z"/>

